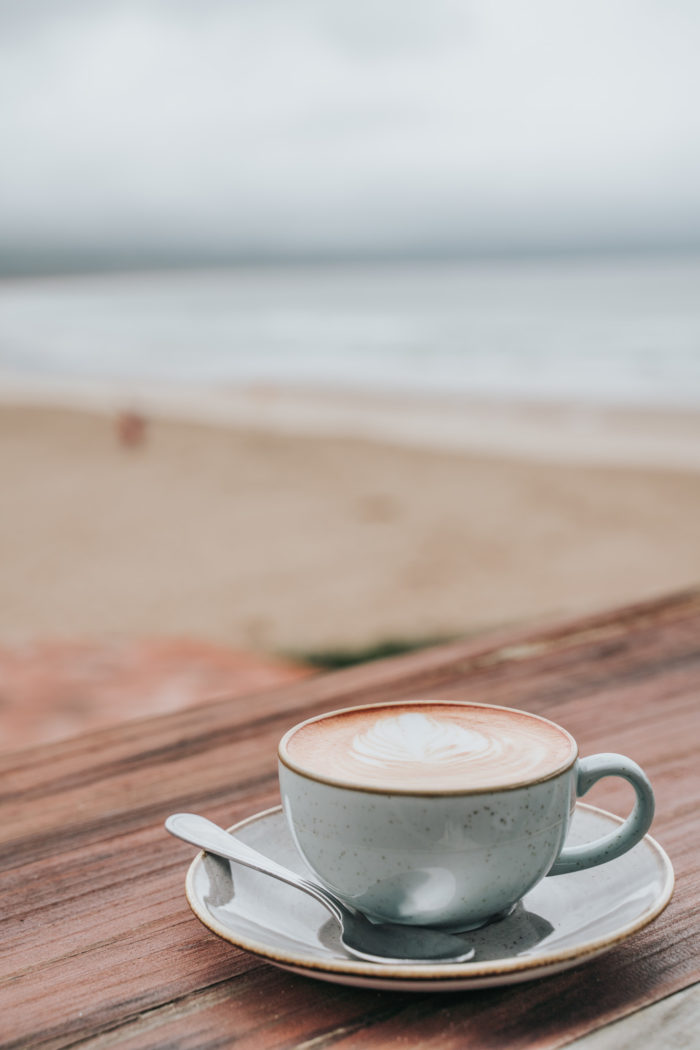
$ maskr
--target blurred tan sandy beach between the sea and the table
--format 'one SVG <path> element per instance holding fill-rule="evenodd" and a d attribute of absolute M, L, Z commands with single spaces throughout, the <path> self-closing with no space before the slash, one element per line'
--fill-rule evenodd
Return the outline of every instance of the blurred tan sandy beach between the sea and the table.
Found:
<path fill-rule="evenodd" d="M 0 640 L 352 649 L 700 580 L 692 413 L 207 403 L 142 398 L 133 445 L 108 398 L 0 406 Z"/>

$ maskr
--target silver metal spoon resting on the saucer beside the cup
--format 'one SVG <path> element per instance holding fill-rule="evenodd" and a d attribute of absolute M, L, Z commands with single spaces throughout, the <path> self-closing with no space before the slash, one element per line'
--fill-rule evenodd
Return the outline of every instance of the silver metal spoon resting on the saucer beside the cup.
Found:
<path fill-rule="evenodd" d="M 358 959 L 370 963 L 464 963 L 472 959 L 474 949 L 465 950 L 464 941 L 451 933 L 427 926 L 402 926 L 399 923 L 369 922 L 359 911 L 336 900 L 332 894 L 296 875 L 225 832 L 218 824 L 194 813 L 175 813 L 165 822 L 166 830 L 178 839 L 199 846 L 208 853 L 252 867 L 262 875 L 287 882 L 309 894 L 322 904 L 340 926 L 343 947 Z"/>

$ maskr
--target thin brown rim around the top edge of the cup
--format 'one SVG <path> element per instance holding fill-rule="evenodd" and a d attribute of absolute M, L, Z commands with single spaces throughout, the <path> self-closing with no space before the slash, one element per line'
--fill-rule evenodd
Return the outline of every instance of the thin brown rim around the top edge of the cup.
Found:
<path fill-rule="evenodd" d="M 373 708 L 385 709 L 385 708 L 406 708 L 406 707 L 425 707 L 429 705 L 430 707 L 445 707 L 445 708 L 479 708 L 480 710 L 487 711 L 510 711 L 513 714 L 524 715 L 526 718 L 533 718 L 535 721 L 544 722 L 547 726 L 553 726 L 554 729 L 558 730 L 568 738 L 571 744 L 570 757 L 566 762 L 557 765 L 556 769 L 551 770 L 538 777 L 533 777 L 527 780 L 517 780 L 513 783 L 508 784 L 495 784 L 489 788 L 443 788 L 443 789 L 415 789 L 415 788 L 378 788 L 372 784 L 360 784 L 355 783 L 352 780 L 343 780 L 341 777 L 326 777 L 320 776 L 318 773 L 313 773 L 311 770 L 304 769 L 294 759 L 288 752 L 288 741 L 294 736 L 294 734 L 302 729 L 304 726 L 309 726 L 311 722 L 324 721 L 326 718 L 335 718 L 337 715 L 351 714 L 355 711 L 372 711 Z M 545 718 L 544 715 L 535 715 L 531 711 L 522 711 L 519 708 L 507 708 L 499 704 L 474 704 L 470 700 L 389 700 L 388 702 L 378 701 L 375 704 L 358 704 L 349 708 L 338 708 L 337 711 L 324 711 L 323 714 L 314 715 L 312 718 L 304 718 L 303 721 L 297 722 L 292 729 L 289 729 L 284 736 L 279 741 L 277 748 L 277 757 L 282 765 L 285 765 L 288 770 L 293 773 L 297 773 L 299 776 L 305 777 L 307 780 L 315 780 L 317 783 L 330 784 L 332 788 L 345 788 L 351 791 L 367 792 L 370 795 L 412 795 L 415 798 L 440 798 L 446 795 L 486 795 L 493 794 L 494 792 L 504 791 L 517 791 L 521 788 L 530 788 L 533 784 L 545 783 L 547 780 L 553 780 L 555 777 L 560 776 L 570 770 L 578 758 L 578 744 L 574 740 L 571 733 L 569 733 L 564 727 L 559 726 L 558 722 L 552 721 L 551 718 Z"/>

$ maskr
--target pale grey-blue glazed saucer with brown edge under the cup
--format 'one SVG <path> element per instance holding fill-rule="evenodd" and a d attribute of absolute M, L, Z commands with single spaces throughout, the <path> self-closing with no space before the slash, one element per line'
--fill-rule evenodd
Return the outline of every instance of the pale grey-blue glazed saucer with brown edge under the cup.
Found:
<path fill-rule="evenodd" d="M 591 841 L 621 823 L 578 802 L 568 844 Z M 302 875 L 281 806 L 231 832 Z M 251 868 L 200 853 L 190 865 L 190 907 L 212 932 L 275 966 L 336 984 L 410 991 L 455 991 L 514 984 L 577 966 L 624 941 L 666 906 L 671 861 L 649 835 L 617 860 L 544 879 L 499 922 L 460 934 L 467 963 L 365 963 L 348 956 L 335 920 L 306 894 Z"/>

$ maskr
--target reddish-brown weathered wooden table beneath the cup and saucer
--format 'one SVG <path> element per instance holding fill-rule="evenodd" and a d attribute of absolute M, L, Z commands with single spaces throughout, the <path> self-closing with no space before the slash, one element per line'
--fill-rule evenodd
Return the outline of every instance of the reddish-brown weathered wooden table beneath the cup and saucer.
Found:
<path fill-rule="evenodd" d="M 274 805 L 284 729 L 333 708 L 425 695 L 544 713 L 584 754 L 640 762 L 657 794 L 653 832 L 676 869 L 663 915 L 567 972 L 446 994 L 320 983 L 205 929 L 184 895 L 192 849 L 164 833 L 164 818 L 192 810 L 231 824 Z M 700 591 L 5 756 L 1 1045 L 699 1046 L 699 739 Z M 625 812 L 628 791 L 610 780 L 590 800 Z"/>

